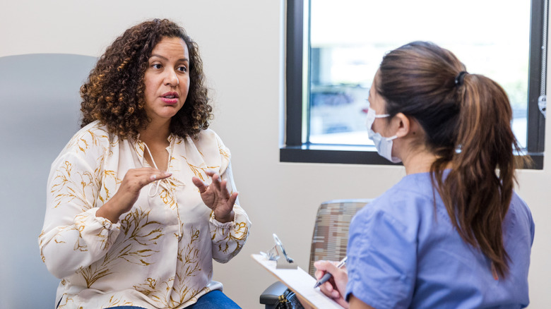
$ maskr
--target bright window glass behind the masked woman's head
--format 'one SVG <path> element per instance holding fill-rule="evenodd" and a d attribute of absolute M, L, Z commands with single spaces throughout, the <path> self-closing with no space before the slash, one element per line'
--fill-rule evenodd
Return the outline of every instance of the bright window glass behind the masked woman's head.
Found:
<path fill-rule="evenodd" d="M 526 147 L 531 1 L 312 0 L 309 28 L 311 144 L 372 145 L 365 108 L 382 57 L 412 41 L 451 50 L 467 71 L 509 95 L 513 131 Z"/>

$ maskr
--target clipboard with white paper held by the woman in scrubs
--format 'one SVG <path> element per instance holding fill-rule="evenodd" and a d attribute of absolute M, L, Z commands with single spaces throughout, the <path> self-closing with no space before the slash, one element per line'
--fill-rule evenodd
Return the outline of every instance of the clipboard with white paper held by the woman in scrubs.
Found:
<path fill-rule="evenodd" d="M 321 293 L 319 288 L 314 289 L 316 279 L 304 272 L 300 267 L 296 269 L 281 269 L 276 267 L 276 262 L 268 260 L 259 254 L 253 254 L 251 257 L 256 260 L 268 272 L 273 274 L 285 286 L 301 296 L 313 308 L 320 309 L 343 309 L 338 303 Z"/>

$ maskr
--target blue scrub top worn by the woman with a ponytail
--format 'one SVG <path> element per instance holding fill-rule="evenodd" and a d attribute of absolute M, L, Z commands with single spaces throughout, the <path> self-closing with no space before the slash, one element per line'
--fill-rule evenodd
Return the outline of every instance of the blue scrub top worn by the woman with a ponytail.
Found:
<path fill-rule="evenodd" d="M 503 223 L 509 274 L 463 241 L 429 173 L 405 176 L 356 214 L 348 240 L 346 298 L 374 308 L 524 308 L 534 222 L 514 193 Z"/>

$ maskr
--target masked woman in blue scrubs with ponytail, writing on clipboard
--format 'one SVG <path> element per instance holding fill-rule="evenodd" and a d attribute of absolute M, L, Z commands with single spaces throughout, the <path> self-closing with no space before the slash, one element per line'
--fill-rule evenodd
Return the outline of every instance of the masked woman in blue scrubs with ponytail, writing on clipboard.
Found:
<path fill-rule="evenodd" d="M 502 87 L 412 42 L 384 56 L 369 103 L 369 137 L 406 176 L 352 219 L 345 268 L 316 262 L 321 291 L 345 308 L 526 307 L 534 222 Z"/>

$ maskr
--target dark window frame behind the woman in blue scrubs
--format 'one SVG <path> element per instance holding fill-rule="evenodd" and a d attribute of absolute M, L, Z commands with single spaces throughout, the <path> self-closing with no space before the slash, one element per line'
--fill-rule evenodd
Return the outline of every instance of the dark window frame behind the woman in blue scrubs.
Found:
<path fill-rule="evenodd" d="M 533 165 L 526 166 L 526 169 L 543 169 L 545 117 L 538 108 L 538 97 L 542 93 L 547 93 L 547 8 L 548 0 L 531 0 L 528 136 L 524 151 L 533 160 Z M 308 126 L 304 126 L 303 116 L 307 116 L 304 119 L 309 119 L 308 108 L 303 107 L 303 96 L 309 97 L 309 93 L 303 93 L 303 90 L 309 91 L 309 88 L 303 85 L 304 53 L 306 58 L 310 59 L 309 48 L 304 45 L 304 25 L 309 25 L 309 22 L 304 23 L 304 18 L 309 16 L 304 15 L 304 0 L 288 0 L 286 11 L 285 145 L 280 147 L 280 162 L 400 165 L 380 157 L 375 147 L 370 145 L 319 145 L 308 141 L 303 143 L 302 136 L 308 136 Z"/>

